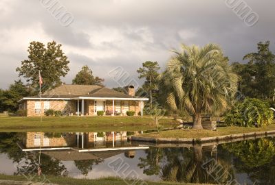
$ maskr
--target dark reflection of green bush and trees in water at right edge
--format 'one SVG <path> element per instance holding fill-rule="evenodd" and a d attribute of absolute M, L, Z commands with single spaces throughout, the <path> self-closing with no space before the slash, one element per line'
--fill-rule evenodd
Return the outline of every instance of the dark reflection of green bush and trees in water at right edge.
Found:
<path fill-rule="evenodd" d="M 244 140 L 222 145 L 222 148 L 234 154 L 236 172 L 247 173 L 256 184 L 275 184 L 274 139 Z"/>

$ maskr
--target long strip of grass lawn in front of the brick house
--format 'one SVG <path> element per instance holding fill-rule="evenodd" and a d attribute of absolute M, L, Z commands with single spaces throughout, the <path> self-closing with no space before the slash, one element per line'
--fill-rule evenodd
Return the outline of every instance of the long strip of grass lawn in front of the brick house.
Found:
<path fill-rule="evenodd" d="M 159 124 L 175 127 L 178 121 L 163 118 Z M 150 116 L 45 116 L 42 117 L 1 117 L 0 132 L 109 132 L 136 131 L 155 128 Z"/>

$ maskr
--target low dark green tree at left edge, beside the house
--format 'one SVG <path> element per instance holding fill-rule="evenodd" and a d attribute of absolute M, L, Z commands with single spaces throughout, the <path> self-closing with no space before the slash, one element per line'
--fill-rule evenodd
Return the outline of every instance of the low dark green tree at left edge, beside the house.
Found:
<path fill-rule="evenodd" d="M 21 80 L 14 81 L 8 90 L 0 90 L 0 111 L 16 112 L 19 108 L 18 101 L 30 95 L 32 95 L 31 88 L 24 85 Z"/>

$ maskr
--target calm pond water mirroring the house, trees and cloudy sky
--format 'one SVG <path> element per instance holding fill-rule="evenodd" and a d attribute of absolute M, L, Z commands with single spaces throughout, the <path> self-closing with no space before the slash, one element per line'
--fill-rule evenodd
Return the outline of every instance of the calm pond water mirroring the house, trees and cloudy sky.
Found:
<path fill-rule="evenodd" d="M 0 133 L 0 173 L 31 177 L 37 173 L 40 156 L 45 176 L 275 184 L 274 138 L 207 147 L 165 147 L 133 143 L 127 140 L 131 134 Z"/>

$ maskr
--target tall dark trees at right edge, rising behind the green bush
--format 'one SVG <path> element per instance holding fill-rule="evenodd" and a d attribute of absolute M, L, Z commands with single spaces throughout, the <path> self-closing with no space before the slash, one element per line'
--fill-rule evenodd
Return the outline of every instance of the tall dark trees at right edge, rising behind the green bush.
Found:
<path fill-rule="evenodd" d="M 275 55 L 270 51 L 270 41 L 259 42 L 256 53 L 248 53 L 247 64 L 233 64 L 241 76 L 239 90 L 246 97 L 275 100 Z"/>

